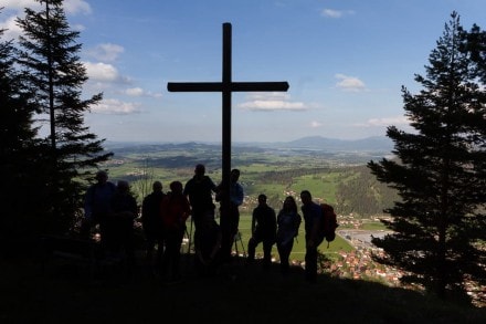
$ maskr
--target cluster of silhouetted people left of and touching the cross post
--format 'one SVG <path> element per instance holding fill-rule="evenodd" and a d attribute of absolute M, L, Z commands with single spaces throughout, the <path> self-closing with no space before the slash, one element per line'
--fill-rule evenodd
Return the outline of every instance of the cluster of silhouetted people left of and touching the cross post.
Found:
<path fill-rule="evenodd" d="M 170 182 L 170 191 L 163 192 L 162 184 L 155 181 L 152 191 L 144 197 L 141 224 L 146 239 L 146 260 L 152 274 L 168 282 L 180 280 L 180 249 L 186 221 L 191 217 L 194 226 L 196 266 L 200 273 L 216 271 L 219 264 L 231 262 L 231 248 L 240 222 L 239 206 L 243 203 L 243 187 L 239 182 L 240 170 L 231 170 L 229 208 L 221 208 L 220 223 L 215 221 L 216 200 L 224 190 L 205 175 L 204 165 L 197 165 L 194 176 L 186 186 Z M 85 196 L 85 219 L 81 232 L 88 236 L 98 224 L 104 258 L 123 255 L 129 268 L 135 261 L 134 221 L 138 217 L 135 198 L 127 181 L 115 186 L 106 171 L 96 174 L 97 182 Z M 191 228 L 192 233 L 192 228 Z"/>

